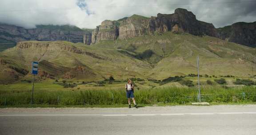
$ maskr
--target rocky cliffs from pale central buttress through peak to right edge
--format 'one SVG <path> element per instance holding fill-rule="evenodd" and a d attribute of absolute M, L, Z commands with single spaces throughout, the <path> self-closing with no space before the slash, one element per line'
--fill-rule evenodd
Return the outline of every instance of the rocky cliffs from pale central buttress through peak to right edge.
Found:
<path fill-rule="evenodd" d="M 186 9 L 177 8 L 173 14 L 160 14 L 147 18 L 133 15 L 120 20 L 105 20 L 92 32 L 92 44 L 100 40 L 124 40 L 145 35 L 161 35 L 164 32 L 186 32 L 195 36 L 213 36 L 230 42 L 256 47 L 256 22 L 236 23 L 215 28 L 200 20 Z"/>

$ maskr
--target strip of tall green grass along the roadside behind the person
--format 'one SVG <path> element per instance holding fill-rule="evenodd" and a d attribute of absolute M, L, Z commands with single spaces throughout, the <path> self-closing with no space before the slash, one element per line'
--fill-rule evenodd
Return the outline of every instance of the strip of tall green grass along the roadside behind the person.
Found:
<path fill-rule="evenodd" d="M 84 90 L 84 91 L 37 91 L 34 94 L 35 104 L 49 105 L 113 105 L 126 104 L 125 90 Z M 243 93 L 244 92 L 244 93 Z M 256 102 L 254 87 L 222 88 L 206 87 L 201 91 L 205 102 L 217 103 L 253 103 Z M 196 88 L 164 87 L 136 90 L 137 103 L 190 103 L 197 102 Z M 0 94 L 0 105 L 29 104 L 30 91 L 8 91 Z"/>

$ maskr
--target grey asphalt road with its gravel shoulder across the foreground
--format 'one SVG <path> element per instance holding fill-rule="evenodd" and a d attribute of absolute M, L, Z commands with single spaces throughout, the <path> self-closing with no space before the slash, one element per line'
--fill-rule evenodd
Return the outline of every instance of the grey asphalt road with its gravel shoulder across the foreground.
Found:
<path fill-rule="evenodd" d="M 2 108 L 0 135 L 256 135 L 256 105 Z"/>

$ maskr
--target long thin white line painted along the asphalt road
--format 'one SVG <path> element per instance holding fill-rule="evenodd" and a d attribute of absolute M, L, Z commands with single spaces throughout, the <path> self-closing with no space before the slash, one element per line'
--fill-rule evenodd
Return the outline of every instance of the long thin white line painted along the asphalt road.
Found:
<path fill-rule="evenodd" d="M 202 112 L 202 113 L 166 113 L 166 114 L 12 114 L 0 116 L 168 116 L 168 115 L 233 115 L 256 114 L 256 112 Z"/>

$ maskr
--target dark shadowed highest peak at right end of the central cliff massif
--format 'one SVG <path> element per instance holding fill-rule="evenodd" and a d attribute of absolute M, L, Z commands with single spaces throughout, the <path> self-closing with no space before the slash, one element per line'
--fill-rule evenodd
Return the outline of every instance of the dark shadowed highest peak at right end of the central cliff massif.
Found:
<path fill-rule="evenodd" d="M 212 24 L 196 20 L 196 16 L 186 9 L 177 8 L 174 14 L 157 14 L 150 19 L 149 32 L 188 32 L 196 36 L 216 36 L 215 27 Z"/>

